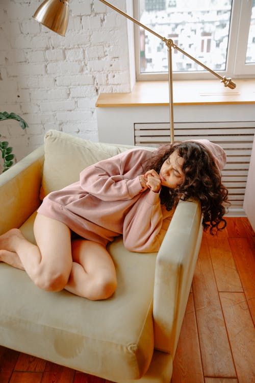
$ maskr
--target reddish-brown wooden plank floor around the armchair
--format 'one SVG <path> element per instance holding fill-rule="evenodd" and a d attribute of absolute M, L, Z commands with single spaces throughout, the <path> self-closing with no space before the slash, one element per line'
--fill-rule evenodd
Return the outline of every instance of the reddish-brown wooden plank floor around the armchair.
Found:
<path fill-rule="evenodd" d="M 255 382 L 255 234 L 228 218 L 203 235 L 172 383 Z M 0 346 L 1 383 L 109 383 Z M 170 382 L 169 382 L 170 383 Z"/>

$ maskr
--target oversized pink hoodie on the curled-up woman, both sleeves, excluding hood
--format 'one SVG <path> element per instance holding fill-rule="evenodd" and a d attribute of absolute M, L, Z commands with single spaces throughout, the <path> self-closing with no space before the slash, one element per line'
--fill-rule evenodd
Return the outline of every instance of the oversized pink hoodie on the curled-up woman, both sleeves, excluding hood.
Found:
<path fill-rule="evenodd" d="M 78 182 L 48 194 L 38 212 L 103 245 L 123 234 L 131 251 L 158 251 L 163 218 L 172 212 L 161 206 L 159 193 L 141 192 L 139 175 L 151 155 L 132 149 L 87 167 Z"/>

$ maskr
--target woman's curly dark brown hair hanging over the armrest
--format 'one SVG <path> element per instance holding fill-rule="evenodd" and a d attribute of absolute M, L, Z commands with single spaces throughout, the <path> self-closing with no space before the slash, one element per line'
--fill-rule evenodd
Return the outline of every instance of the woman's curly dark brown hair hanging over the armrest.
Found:
<path fill-rule="evenodd" d="M 174 152 L 184 159 L 182 171 L 184 181 L 176 188 L 161 187 L 161 204 L 167 210 L 175 208 L 180 199 L 197 199 L 203 213 L 202 225 L 210 234 L 226 226 L 223 216 L 228 205 L 228 191 L 221 183 L 221 174 L 212 154 L 198 142 L 174 142 L 163 145 L 154 152 L 151 160 L 146 163 L 146 171 L 155 169 L 160 172 L 164 161 Z"/>

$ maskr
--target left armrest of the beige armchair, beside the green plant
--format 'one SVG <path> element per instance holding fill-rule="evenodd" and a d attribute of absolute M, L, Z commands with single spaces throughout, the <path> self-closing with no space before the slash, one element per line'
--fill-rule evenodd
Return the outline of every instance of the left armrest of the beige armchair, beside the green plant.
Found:
<path fill-rule="evenodd" d="M 40 205 L 43 161 L 40 147 L 0 175 L 0 234 L 21 226 Z"/>

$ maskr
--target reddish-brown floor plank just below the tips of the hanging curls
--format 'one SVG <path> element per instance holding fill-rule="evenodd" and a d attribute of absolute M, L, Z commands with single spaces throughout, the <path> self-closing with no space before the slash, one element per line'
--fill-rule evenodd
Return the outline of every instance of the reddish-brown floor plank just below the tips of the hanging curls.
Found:
<path fill-rule="evenodd" d="M 218 291 L 242 292 L 242 283 L 226 237 L 207 236 Z"/>

